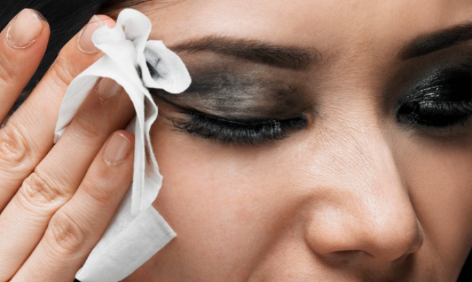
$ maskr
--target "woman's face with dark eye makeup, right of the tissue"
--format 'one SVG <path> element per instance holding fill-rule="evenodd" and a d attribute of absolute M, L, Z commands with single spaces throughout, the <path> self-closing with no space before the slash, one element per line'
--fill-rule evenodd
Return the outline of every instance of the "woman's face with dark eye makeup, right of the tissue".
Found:
<path fill-rule="evenodd" d="M 128 281 L 457 278 L 472 1 L 160 2 L 135 8 L 193 78 L 155 93 L 178 236 Z"/>

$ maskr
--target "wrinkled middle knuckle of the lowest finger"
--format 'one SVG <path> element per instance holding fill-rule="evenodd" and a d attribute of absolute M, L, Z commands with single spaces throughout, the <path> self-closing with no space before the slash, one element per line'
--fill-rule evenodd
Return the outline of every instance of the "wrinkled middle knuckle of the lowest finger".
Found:
<path fill-rule="evenodd" d="M 49 222 L 45 238 L 57 252 L 71 254 L 81 249 L 87 240 L 87 233 L 74 218 L 58 210 Z"/>

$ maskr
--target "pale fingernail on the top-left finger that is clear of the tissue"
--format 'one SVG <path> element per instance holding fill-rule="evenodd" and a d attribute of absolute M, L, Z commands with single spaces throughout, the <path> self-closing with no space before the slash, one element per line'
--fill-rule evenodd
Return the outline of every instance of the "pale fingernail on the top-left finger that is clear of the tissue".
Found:
<path fill-rule="evenodd" d="M 14 49 L 26 49 L 33 45 L 42 31 L 44 17 L 39 12 L 24 9 L 12 20 L 6 32 L 8 45 Z"/>

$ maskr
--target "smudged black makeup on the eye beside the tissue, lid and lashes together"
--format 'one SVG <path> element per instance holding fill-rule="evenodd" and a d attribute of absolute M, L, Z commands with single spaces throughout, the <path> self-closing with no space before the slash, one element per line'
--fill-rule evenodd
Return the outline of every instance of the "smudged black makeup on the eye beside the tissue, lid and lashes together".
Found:
<path fill-rule="evenodd" d="M 251 65 L 241 68 L 198 68 L 183 94 L 152 91 L 153 96 L 176 107 L 174 126 L 187 134 L 233 145 L 256 145 L 285 139 L 303 130 L 308 121 L 309 94 L 276 71 Z M 284 79 L 285 78 L 285 79 Z"/>

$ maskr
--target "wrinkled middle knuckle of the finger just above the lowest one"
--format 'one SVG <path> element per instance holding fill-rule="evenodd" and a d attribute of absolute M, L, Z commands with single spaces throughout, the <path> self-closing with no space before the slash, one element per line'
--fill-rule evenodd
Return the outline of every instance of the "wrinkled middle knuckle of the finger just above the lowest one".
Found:
<path fill-rule="evenodd" d="M 66 189 L 61 188 L 50 177 L 37 170 L 24 179 L 18 196 L 19 202 L 26 206 L 62 204 L 71 197 Z"/>

